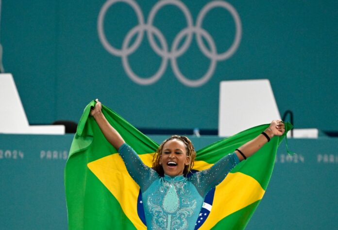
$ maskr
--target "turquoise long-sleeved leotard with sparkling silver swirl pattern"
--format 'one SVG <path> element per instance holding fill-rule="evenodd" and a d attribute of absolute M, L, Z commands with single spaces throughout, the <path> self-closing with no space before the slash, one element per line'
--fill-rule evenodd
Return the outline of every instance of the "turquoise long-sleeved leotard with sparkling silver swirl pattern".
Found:
<path fill-rule="evenodd" d="M 118 153 L 140 186 L 147 228 L 152 230 L 193 230 L 208 191 L 239 163 L 236 153 L 231 153 L 189 178 L 161 177 L 129 145 L 123 144 Z"/>

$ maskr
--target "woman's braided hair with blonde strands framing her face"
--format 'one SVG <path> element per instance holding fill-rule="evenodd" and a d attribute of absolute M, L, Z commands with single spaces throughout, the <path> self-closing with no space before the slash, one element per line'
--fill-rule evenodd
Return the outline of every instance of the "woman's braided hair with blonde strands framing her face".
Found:
<path fill-rule="evenodd" d="M 194 167 L 194 160 L 195 160 L 195 157 L 196 157 L 196 152 L 195 152 L 195 148 L 192 145 L 189 138 L 187 138 L 185 136 L 173 135 L 170 138 L 164 140 L 162 142 L 162 144 L 156 150 L 156 153 L 154 154 L 154 157 L 152 159 L 152 169 L 154 169 L 160 176 L 164 176 L 164 170 L 163 170 L 162 165 L 160 164 L 163 146 L 169 140 L 173 140 L 173 139 L 177 139 L 177 140 L 182 141 L 184 143 L 184 145 L 186 146 L 186 156 L 189 157 L 189 164 L 186 165 L 184 167 L 184 170 L 183 170 L 183 175 L 186 176 L 186 174 L 188 174 L 188 172 L 192 169 L 192 167 Z"/>

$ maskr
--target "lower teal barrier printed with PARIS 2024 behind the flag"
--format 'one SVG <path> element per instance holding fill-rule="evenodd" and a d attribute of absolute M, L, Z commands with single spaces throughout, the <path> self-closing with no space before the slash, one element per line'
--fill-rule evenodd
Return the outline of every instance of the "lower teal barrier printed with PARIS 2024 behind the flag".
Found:
<path fill-rule="evenodd" d="M 149 137 L 157 143 L 168 138 Z M 67 229 L 64 167 L 72 138 L 0 135 L 1 230 Z M 189 138 L 197 150 L 220 140 Z M 291 157 L 282 142 L 270 184 L 246 230 L 336 229 L 337 145 L 338 138 L 288 139 L 297 153 Z"/>

